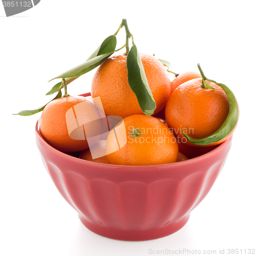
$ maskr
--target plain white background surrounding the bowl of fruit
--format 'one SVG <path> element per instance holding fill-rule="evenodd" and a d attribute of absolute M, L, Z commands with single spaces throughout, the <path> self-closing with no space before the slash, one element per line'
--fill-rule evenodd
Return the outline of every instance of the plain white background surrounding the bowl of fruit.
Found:
<path fill-rule="evenodd" d="M 80 64 L 127 19 L 141 52 L 226 84 L 240 105 L 228 159 L 203 202 L 178 232 L 145 242 L 115 241 L 89 231 L 60 196 L 35 145 L 40 114 L 54 76 Z M 41 0 L 5 17 L 0 3 L 1 255 L 148 255 L 149 250 L 256 249 L 254 1 Z M 124 29 L 118 34 L 124 44 Z M 90 91 L 94 70 L 68 87 Z M 170 79 L 173 75 L 170 74 Z M 256 253 L 256 252 L 255 252 Z M 185 253 L 184 253 L 185 254 Z"/>

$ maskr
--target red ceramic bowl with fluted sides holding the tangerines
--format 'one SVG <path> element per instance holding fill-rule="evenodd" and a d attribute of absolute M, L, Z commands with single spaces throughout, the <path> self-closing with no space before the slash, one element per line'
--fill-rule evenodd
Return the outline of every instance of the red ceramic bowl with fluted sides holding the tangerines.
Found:
<path fill-rule="evenodd" d="M 220 174 L 231 139 L 182 162 L 122 166 L 61 153 L 45 141 L 36 124 L 42 161 L 84 226 L 100 236 L 125 241 L 157 239 L 181 229 Z"/>

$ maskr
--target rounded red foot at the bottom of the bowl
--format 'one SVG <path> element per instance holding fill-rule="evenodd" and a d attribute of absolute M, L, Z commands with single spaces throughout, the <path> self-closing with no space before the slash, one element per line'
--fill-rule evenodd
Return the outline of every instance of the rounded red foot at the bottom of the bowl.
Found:
<path fill-rule="evenodd" d="M 120 230 L 116 228 L 99 226 L 97 224 L 95 225 L 78 214 L 82 224 L 92 232 L 99 234 L 102 237 L 122 241 L 146 241 L 169 236 L 169 234 L 173 234 L 184 227 L 189 219 L 189 216 L 190 214 L 178 222 L 168 223 L 167 225 L 164 225 L 160 228 L 146 230 Z"/>

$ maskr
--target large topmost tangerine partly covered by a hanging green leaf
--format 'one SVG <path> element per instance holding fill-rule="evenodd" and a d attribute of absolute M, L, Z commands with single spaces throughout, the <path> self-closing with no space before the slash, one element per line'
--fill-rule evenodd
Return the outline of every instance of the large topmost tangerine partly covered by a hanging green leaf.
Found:
<path fill-rule="evenodd" d="M 156 102 L 154 114 L 163 109 L 170 95 L 170 79 L 163 64 L 154 56 L 140 53 L 148 85 Z M 122 118 L 143 114 L 129 86 L 126 55 L 106 59 L 92 80 L 92 97 L 100 96 L 105 115 Z"/>

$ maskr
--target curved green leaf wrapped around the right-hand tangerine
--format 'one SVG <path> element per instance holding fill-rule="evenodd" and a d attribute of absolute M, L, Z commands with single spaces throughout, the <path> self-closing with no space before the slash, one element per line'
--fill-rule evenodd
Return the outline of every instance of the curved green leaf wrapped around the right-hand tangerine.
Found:
<path fill-rule="evenodd" d="M 208 78 L 206 78 L 206 79 L 208 81 L 214 82 L 214 80 L 210 80 Z M 185 136 L 185 138 L 194 144 L 208 145 L 210 143 L 215 143 L 217 141 L 220 141 L 231 133 L 231 131 L 234 129 L 234 127 L 236 126 L 236 124 L 238 122 L 239 110 L 238 110 L 238 103 L 237 103 L 236 97 L 234 97 L 234 94 L 232 93 L 232 91 L 224 84 L 222 84 L 222 83 L 216 83 L 216 84 L 218 84 L 218 86 L 220 86 L 227 95 L 227 98 L 229 101 L 228 116 L 227 116 L 226 120 L 224 121 L 224 123 L 221 125 L 221 127 L 215 133 L 211 134 L 208 137 L 202 138 L 202 139 L 191 138 L 188 135 L 186 135 L 182 130 L 182 133 Z"/>

